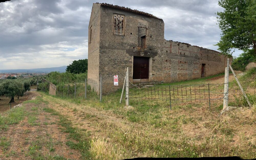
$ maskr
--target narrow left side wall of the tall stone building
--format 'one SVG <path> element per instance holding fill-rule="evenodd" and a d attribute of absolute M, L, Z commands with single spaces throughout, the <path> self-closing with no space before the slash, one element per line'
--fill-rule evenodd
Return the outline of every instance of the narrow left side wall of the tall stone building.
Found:
<path fill-rule="evenodd" d="M 92 29 L 92 34 L 91 34 Z M 92 35 L 92 36 L 91 36 Z M 91 36 L 91 37 L 90 37 Z M 99 92 L 100 4 L 93 4 L 88 27 L 88 84 Z"/>

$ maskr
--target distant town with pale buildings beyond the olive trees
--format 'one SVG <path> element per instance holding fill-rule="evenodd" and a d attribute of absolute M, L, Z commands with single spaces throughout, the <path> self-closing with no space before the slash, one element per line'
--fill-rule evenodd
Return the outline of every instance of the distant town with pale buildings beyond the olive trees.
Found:
<path fill-rule="evenodd" d="M 31 78 L 36 76 L 44 76 L 47 73 L 0 73 L 0 79 L 8 79 L 8 77 L 13 78 Z"/>

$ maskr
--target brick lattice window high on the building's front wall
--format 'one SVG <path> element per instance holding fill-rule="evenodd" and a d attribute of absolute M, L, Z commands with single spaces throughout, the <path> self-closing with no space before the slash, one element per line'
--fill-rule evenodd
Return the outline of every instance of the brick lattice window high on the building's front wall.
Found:
<path fill-rule="evenodd" d="M 124 15 L 114 14 L 113 19 L 114 19 L 113 34 L 124 35 Z"/>

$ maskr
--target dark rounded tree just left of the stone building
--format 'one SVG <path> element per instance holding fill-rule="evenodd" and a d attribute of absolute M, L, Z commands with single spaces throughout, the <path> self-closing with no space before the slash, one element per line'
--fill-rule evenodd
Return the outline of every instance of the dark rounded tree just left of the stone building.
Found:
<path fill-rule="evenodd" d="M 88 59 L 74 60 L 71 65 L 67 66 L 66 71 L 70 73 L 86 73 L 88 69 Z"/>

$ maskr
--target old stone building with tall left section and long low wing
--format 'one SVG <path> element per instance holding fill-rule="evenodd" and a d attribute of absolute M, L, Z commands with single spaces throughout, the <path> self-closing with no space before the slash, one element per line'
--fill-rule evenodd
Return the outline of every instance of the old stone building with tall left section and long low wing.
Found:
<path fill-rule="evenodd" d="M 164 39 L 164 21 L 145 12 L 94 3 L 88 28 L 88 84 L 103 93 L 122 88 L 129 80 L 174 82 L 225 71 L 227 58 L 219 52 Z M 114 86 L 114 75 L 119 86 Z"/>

